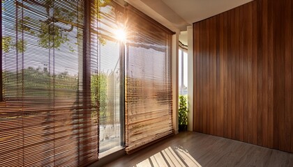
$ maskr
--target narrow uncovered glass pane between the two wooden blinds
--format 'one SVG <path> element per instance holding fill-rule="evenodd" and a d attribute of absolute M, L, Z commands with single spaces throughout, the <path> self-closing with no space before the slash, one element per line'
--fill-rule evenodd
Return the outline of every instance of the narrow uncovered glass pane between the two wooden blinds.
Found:
<path fill-rule="evenodd" d="M 100 8 L 96 22 L 98 37 L 99 153 L 100 157 L 123 148 L 123 8 Z M 94 95 L 96 97 L 96 95 Z"/>

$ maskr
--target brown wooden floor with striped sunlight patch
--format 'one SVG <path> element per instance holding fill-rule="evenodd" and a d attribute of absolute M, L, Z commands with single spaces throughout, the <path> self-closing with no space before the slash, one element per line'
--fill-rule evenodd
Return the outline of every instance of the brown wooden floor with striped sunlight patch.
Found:
<path fill-rule="evenodd" d="M 196 132 L 181 132 L 106 166 L 293 166 L 293 154 Z"/>

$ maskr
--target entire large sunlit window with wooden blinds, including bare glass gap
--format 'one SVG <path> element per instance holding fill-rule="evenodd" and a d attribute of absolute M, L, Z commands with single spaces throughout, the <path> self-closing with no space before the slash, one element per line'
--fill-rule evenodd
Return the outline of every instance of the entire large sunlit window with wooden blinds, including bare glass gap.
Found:
<path fill-rule="evenodd" d="M 172 134 L 170 30 L 110 0 L 1 2 L 0 166 L 86 166 Z"/>

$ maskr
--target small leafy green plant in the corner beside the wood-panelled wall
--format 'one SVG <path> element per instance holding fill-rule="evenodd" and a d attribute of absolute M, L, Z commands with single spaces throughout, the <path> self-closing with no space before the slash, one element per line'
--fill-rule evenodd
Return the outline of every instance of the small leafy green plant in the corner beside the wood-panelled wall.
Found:
<path fill-rule="evenodd" d="M 187 96 L 179 95 L 179 131 L 186 131 L 188 124 Z"/>

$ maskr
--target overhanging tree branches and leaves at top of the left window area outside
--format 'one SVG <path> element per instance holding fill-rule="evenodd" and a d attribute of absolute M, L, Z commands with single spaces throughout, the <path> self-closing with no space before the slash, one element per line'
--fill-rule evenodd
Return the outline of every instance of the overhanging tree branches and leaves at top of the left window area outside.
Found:
<path fill-rule="evenodd" d="M 97 19 L 100 19 L 100 8 L 109 5 L 111 1 L 112 0 L 95 0 L 94 6 L 97 8 L 94 10 L 92 15 L 94 15 Z M 1 1 L 1 3 L 6 2 L 8 1 Z M 76 19 L 79 18 L 77 15 L 80 15 L 80 13 L 77 13 L 71 8 L 54 6 L 54 0 L 46 0 L 44 3 L 46 8 L 44 8 L 44 6 L 40 6 L 40 9 L 43 8 L 43 12 L 47 14 L 46 20 L 36 18 L 33 19 L 32 17 L 24 16 L 23 19 L 20 19 L 15 23 L 15 29 L 18 32 L 24 32 L 28 35 L 36 36 L 38 38 L 38 45 L 45 49 L 59 49 L 62 44 L 68 42 L 67 46 L 69 51 L 75 51 L 72 43 L 69 42 L 70 39 L 68 36 L 70 35 L 70 32 L 73 31 L 73 27 L 78 26 L 76 28 L 79 30 L 75 33 L 75 38 L 80 39 L 82 36 L 82 25 L 84 19 L 82 17 L 80 17 L 80 19 Z M 17 3 L 13 5 L 17 5 Z M 17 6 L 17 8 L 20 8 L 20 6 Z M 82 3 L 78 4 L 77 8 L 78 11 L 84 10 Z M 2 7 L 2 10 L 6 12 L 4 7 Z M 50 11 L 54 12 L 50 13 Z M 3 35 L 1 41 L 3 46 L 2 50 L 7 53 L 10 49 L 14 48 L 18 49 L 17 51 L 20 53 L 23 53 L 26 50 L 27 41 L 15 41 L 13 38 L 13 36 Z M 99 35 L 98 39 L 102 45 L 105 45 L 106 41 L 104 38 Z M 77 42 L 73 42 L 73 44 L 77 45 Z"/>

